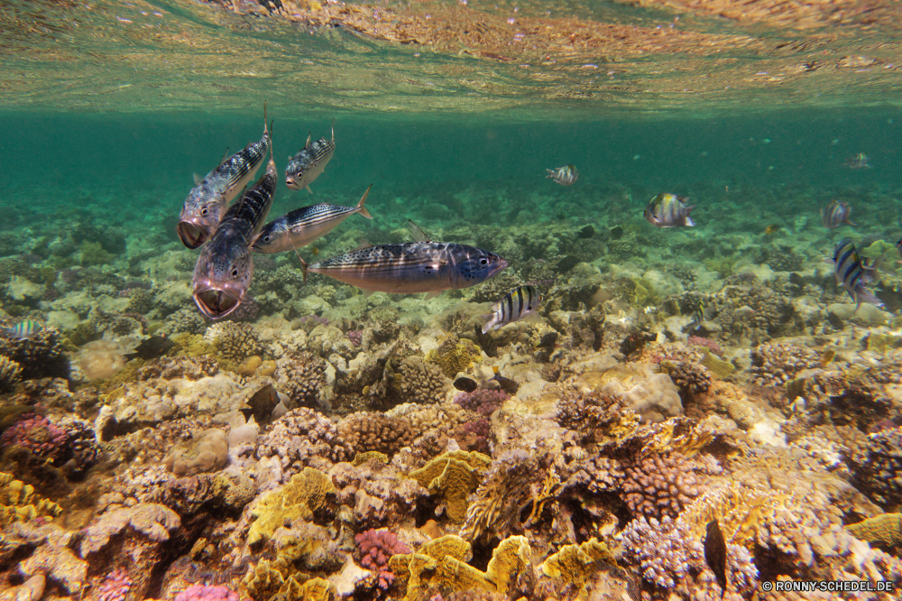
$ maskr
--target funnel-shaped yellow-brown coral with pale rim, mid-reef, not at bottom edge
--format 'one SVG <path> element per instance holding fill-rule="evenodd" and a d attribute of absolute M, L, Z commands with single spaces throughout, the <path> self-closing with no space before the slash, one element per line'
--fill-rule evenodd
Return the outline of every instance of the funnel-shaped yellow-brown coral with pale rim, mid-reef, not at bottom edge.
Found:
<path fill-rule="evenodd" d="M 491 463 L 492 458 L 477 451 L 449 451 L 410 472 L 410 477 L 430 493 L 440 493 L 448 517 L 461 522 L 466 517 L 466 497 L 476 490 L 480 476 Z"/>

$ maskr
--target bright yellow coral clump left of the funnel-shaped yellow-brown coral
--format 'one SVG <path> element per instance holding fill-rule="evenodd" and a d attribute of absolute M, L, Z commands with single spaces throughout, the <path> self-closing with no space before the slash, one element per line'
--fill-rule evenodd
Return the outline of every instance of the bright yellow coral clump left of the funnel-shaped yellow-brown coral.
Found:
<path fill-rule="evenodd" d="M 266 495 L 253 508 L 253 522 L 247 543 L 269 539 L 277 528 L 296 519 L 310 520 L 313 513 L 327 505 L 328 496 L 336 493 L 332 480 L 313 467 L 305 467 L 291 477 L 287 485 Z"/>

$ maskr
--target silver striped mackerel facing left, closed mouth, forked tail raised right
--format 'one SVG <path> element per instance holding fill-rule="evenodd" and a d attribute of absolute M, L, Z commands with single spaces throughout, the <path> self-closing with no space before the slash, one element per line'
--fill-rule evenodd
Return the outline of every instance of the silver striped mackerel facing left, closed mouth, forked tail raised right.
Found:
<path fill-rule="evenodd" d="M 373 188 L 373 184 L 370 184 L 370 188 Z M 366 189 L 356 207 L 311 205 L 272 220 L 263 226 L 260 236 L 257 236 L 251 245 L 251 250 L 263 254 L 297 250 L 301 246 L 313 244 L 318 238 L 326 236 L 354 213 L 360 213 L 367 219 L 372 219 L 373 216 L 364 208 L 370 188 Z"/>

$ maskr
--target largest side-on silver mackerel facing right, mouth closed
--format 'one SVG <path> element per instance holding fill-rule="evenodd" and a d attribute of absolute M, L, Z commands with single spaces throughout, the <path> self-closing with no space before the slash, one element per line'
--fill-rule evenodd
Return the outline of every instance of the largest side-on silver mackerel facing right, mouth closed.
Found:
<path fill-rule="evenodd" d="M 497 254 L 448 242 L 364 243 L 357 250 L 320 263 L 308 265 L 301 259 L 305 280 L 308 272 L 324 273 L 366 293 L 427 292 L 427 299 L 441 291 L 485 282 L 505 267 L 507 261 Z"/>

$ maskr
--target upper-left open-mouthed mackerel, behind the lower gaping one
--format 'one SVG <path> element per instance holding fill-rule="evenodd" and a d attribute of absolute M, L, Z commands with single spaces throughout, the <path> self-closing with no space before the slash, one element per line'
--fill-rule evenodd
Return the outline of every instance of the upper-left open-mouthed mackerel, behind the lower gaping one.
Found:
<path fill-rule="evenodd" d="M 207 173 L 188 193 L 179 215 L 179 238 L 191 249 L 207 242 L 216 231 L 228 203 L 253 179 L 270 150 L 270 133 L 266 127 L 266 104 L 263 104 L 263 137 L 249 143 Z"/>

